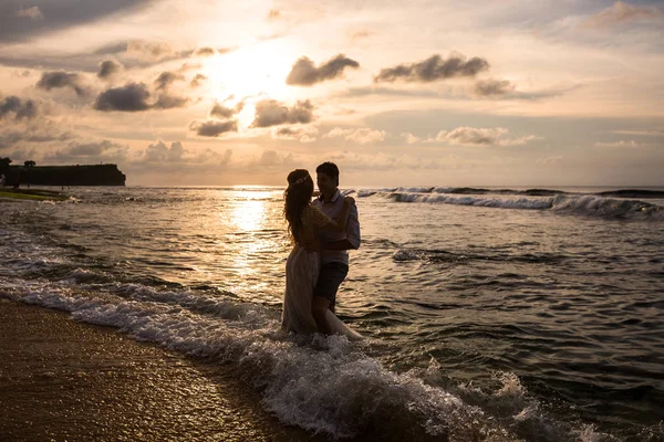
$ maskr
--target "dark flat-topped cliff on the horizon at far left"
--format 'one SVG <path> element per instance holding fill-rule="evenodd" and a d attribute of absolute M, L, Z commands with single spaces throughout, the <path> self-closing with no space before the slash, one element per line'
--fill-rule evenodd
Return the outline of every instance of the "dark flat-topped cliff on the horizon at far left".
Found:
<path fill-rule="evenodd" d="M 116 165 L 10 166 L 6 186 L 124 186 L 125 180 Z"/>

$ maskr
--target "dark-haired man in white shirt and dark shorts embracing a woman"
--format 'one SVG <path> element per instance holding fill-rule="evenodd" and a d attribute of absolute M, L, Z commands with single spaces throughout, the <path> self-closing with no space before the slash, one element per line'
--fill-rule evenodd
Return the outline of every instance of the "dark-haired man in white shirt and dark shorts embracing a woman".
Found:
<path fill-rule="evenodd" d="M 323 162 L 315 168 L 317 183 L 321 196 L 313 204 L 333 220 L 343 211 L 343 197 L 339 191 L 339 168 L 333 162 Z M 345 232 L 321 234 L 321 273 L 313 290 L 312 313 L 319 332 L 330 334 L 325 311 L 334 312 L 336 292 L 349 274 L 349 250 L 360 248 L 360 221 L 357 207 L 351 206 Z"/>

